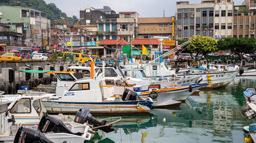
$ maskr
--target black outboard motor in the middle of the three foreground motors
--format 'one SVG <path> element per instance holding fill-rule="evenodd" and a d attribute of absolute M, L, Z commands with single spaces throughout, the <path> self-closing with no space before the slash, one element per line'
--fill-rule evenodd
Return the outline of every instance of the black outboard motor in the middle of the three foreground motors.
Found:
<path fill-rule="evenodd" d="M 38 124 L 38 129 L 42 131 L 42 133 L 69 133 L 73 135 L 82 135 L 83 133 L 73 133 L 72 131 L 65 126 L 65 124 L 59 120 L 56 117 L 53 117 L 51 115 L 48 115 L 47 113 L 44 113 L 42 119 L 40 120 Z"/>

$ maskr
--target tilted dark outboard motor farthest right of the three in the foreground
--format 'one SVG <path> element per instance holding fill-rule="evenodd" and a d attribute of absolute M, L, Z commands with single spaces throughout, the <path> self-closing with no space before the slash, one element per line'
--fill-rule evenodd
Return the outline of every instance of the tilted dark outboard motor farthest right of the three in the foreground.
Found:
<path fill-rule="evenodd" d="M 94 127 L 102 126 L 102 127 L 99 127 L 99 129 L 101 131 L 105 131 L 106 133 L 114 131 L 114 127 L 111 124 L 108 126 L 104 126 L 107 123 L 107 121 L 97 120 L 95 117 L 92 116 L 89 109 L 87 108 L 80 108 L 79 111 L 77 111 L 74 122 L 77 122 L 80 124 L 84 124 L 85 122 L 88 122 L 88 124 L 92 124 L 94 125 Z"/>

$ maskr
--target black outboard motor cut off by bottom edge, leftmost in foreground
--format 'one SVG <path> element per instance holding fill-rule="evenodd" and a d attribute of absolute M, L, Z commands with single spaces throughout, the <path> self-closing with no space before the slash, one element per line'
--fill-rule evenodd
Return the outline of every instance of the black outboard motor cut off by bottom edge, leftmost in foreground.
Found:
<path fill-rule="evenodd" d="M 20 127 L 15 135 L 14 143 L 53 143 L 42 132 L 35 128 Z"/>

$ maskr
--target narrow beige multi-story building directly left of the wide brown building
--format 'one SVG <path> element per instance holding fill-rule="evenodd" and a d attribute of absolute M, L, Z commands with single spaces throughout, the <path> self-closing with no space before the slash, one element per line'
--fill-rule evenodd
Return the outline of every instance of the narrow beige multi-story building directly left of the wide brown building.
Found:
<path fill-rule="evenodd" d="M 137 12 L 119 12 L 119 18 L 117 19 L 117 39 L 124 39 L 131 42 L 137 35 L 138 26 Z"/>

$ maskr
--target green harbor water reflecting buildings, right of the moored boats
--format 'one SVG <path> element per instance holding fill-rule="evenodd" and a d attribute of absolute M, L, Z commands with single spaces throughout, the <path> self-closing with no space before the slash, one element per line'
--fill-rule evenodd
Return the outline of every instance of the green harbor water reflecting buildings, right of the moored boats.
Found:
<path fill-rule="evenodd" d="M 256 77 L 236 77 L 225 88 L 201 90 L 178 108 L 121 116 L 115 131 L 97 133 L 91 142 L 244 142 L 242 126 L 256 121 L 241 115 L 243 92 L 255 87 Z"/>

